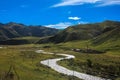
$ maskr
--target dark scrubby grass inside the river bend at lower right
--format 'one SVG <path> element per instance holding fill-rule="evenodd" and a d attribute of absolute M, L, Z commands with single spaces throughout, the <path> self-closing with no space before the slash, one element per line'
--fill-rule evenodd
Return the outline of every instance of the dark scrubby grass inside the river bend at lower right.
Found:
<path fill-rule="evenodd" d="M 69 52 L 70 53 L 70 52 Z M 73 54 L 71 52 L 71 54 Z M 108 54 L 83 54 L 74 53 L 76 59 L 63 60 L 59 64 L 69 69 L 88 73 L 96 76 L 113 78 L 120 74 L 120 57 Z M 111 76 L 113 75 L 113 76 Z"/>

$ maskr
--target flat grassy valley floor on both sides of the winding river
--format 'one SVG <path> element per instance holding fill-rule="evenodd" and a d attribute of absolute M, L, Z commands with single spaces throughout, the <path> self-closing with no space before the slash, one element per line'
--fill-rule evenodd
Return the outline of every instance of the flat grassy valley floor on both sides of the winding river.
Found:
<path fill-rule="evenodd" d="M 46 47 L 47 46 L 47 47 Z M 49 47 L 48 47 L 49 46 Z M 73 45 L 74 47 L 74 45 Z M 21 80 L 72 80 L 73 76 L 58 73 L 40 64 L 46 59 L 59 58 L 60 55 L 36 54 L 36 50 L 74 55 L 75 59 L 62 60 L 58 64 L 75 71 L 94 76 L 120 79 L 119 51 L 109 51 L 104 54 L 85 54 L 72 51 L 66 44 L 29 44 L 19 46 L 3 46 L 0 48 L 0 78 L 5 79 L 10 67 L 15 76 Z M 114 53 L 113 53 L 114 52 Z M 7 76 L 6 76 L 7 75 Z M 74 80 L 80 80 L 74 77 Z"/>

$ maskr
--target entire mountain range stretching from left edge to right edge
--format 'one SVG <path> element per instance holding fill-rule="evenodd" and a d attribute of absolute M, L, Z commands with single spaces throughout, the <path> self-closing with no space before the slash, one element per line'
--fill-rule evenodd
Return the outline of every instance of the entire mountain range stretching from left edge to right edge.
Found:
<path fill-rule="evenodd" d="M 25 38 L 26 36 L 27 38 Z M 111 43 L 111 45 L 117 46 L 120 42 L 120 22 L 107 20 L 101 23 L 69 26 L 64 30 L 17 23 L 0 24 L 0 40 L 0 44 L 3 45 L 91 40 L 93 45 Z"/>

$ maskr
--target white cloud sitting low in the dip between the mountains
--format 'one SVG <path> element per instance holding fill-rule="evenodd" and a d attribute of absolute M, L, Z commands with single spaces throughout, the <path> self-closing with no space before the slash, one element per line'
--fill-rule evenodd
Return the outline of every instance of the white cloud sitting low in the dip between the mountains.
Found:
<path fill-rule="evenodd" d="M 70 22 L 60 22 L 58 24 L 50 24 L 50 25 L 45 25 L 45 26 L 50 27 L 50 28 L 64 29 L 71 25 L 73 24 Z"/>

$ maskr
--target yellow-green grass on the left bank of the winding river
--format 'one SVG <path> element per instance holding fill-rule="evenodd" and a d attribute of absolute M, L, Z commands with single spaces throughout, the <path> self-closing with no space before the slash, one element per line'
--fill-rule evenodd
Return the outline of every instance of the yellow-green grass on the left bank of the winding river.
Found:
<path fill-rule="evenodd" d="M 40 48 L 37 47 L 37 49 Z M 41 60 L 59 56 L 37 54 L 34 52 L 35 50 L 36 45 L 32 44 L 6 46 L 6 48 L 0 49 L 0 78 L 5 76 L 11 65 L 15 68 L 11 70 L 14 76 L 18 74 L 20 80 L 71 80 L 73 78 L 40 64 Z M 15 80 L 18 79 L 15 78 Z"/>

